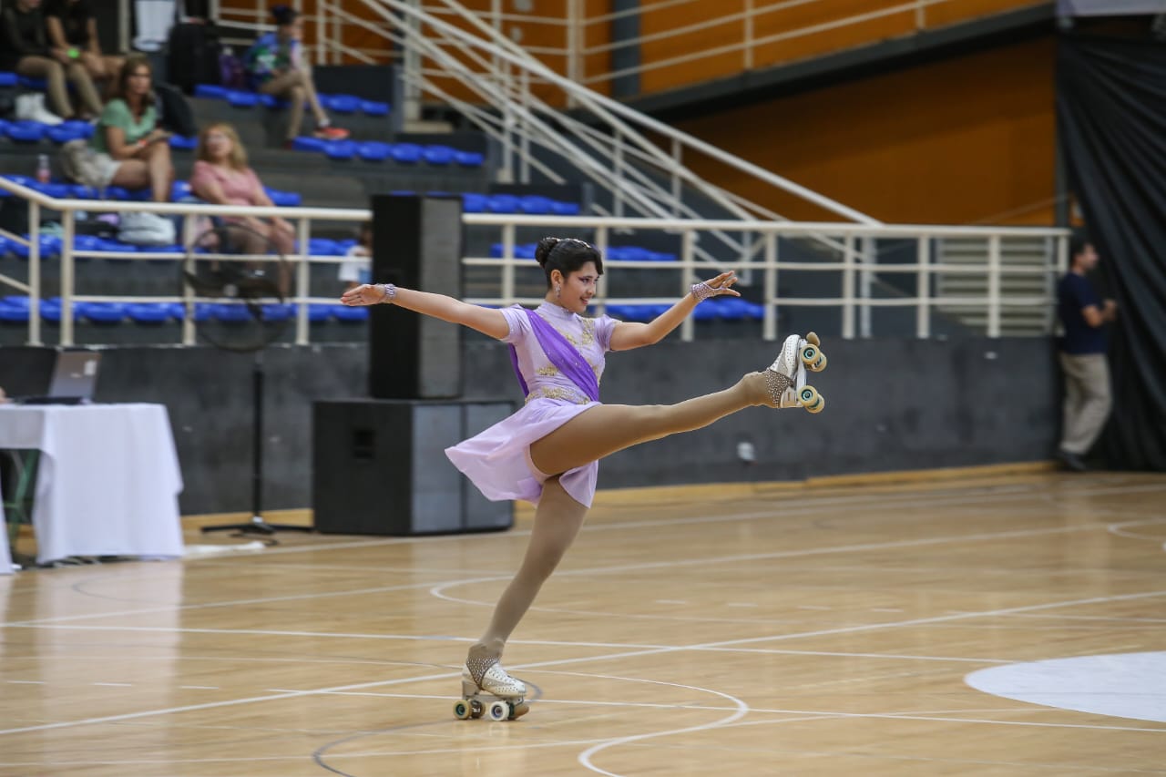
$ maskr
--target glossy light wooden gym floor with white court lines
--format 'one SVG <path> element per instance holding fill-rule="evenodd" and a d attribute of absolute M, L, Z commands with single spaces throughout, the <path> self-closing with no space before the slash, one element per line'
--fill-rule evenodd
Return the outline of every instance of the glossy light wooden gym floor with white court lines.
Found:
<path fill-rule="evenodd" d="M 603 492 L 457 721 L 529 522 L 0 578 L 0 775 L 1166 775 L 1166 476 Z"/>

